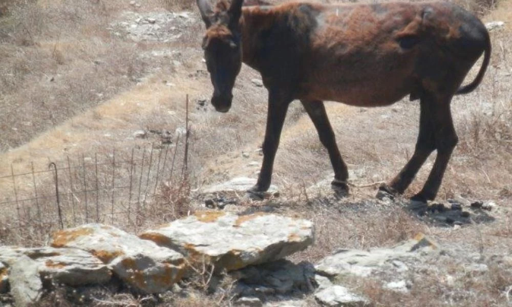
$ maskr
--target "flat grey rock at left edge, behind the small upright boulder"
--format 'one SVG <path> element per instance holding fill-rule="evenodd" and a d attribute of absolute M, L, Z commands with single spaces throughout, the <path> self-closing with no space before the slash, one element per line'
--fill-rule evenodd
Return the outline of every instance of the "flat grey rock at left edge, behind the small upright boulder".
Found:
<path fill-rule="evenodd" d="M 68 286 L 100 284 L 110 280 L 108 266 L 90 253 L 76 248 L 0 247 L 0 260 L 13 263 L 25 255 L 38 264 L 41 278 Z"/>

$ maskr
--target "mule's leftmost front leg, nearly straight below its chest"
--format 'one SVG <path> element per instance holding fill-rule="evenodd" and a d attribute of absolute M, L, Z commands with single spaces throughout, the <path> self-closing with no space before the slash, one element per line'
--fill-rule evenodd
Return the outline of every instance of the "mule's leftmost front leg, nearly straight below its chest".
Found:
<path fill-rule="evenodd" d="M 278 150 L 281 130 L 291 99 L 277 91 L 269 91 L 267 127 L 263 141 L 263 164 L 261 166 L 258 182 L 249 192 L 264 192 L 270 187 L 272 168 L 274 166 L 275 152 Z"/>

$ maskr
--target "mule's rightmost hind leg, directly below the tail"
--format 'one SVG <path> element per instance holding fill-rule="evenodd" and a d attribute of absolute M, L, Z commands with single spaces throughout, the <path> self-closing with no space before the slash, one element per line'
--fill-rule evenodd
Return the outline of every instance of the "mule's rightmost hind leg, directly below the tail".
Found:
<path fill-rule="evenodd" d="M 453 126 L 450 102 L 452 96 L 436 97 L 431 108 L 432 123 L 434 128 L 437 157 L 430 171 L 425 185 L 416 195 L 414 200 L 427 201 L 436 198 L 441 185 L 444 171 L 450 161 L 453 149 L 457 145 L 458 137 Z"/>

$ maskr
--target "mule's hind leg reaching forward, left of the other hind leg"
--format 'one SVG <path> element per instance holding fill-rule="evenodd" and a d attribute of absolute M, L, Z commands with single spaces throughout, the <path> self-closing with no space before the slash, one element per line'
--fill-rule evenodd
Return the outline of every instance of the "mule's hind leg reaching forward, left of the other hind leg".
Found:
<path fill-rule="evenodd" d="M 419 133 L 414 154 L 398 175 L 389 183 L 379 187 L 377 198 L 387 194 L 401 194 L 411 184 L 426 158 L 436 149 L 432 107 L 434 98 L 426 93 L 420 93 Z M 382 194 L 382 192 L 386 192 Z"/>

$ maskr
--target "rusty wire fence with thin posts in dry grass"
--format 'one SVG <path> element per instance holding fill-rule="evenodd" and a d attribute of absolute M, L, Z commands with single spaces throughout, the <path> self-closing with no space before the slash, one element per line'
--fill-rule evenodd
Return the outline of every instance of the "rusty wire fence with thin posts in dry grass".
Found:
<path fill-rule="evenodd" d="M 181 185 L 188 176 L 188 136 L 187 121 L 184 133 L 167 144 L 11 164 L 10 173 L 0 173 L 0 243 L 8 236 L 12 242 L 13 233 L 30 236 L 36 227 L 38 236 L 84 223 L 137 231 L 159 186 Z"/>

